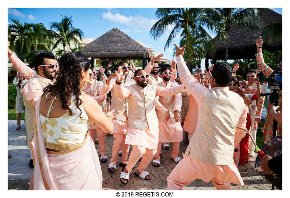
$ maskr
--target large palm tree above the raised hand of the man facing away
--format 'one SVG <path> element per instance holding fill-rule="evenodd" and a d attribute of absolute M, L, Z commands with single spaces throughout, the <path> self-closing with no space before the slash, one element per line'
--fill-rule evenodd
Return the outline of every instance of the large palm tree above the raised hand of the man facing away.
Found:
<path fill-rule="evenodd" d="M 204 39 L 208 41 L 211 47 L 212 55 L 215 52 L 215 42 L 205 30 L 207 27 L 210 32 L 224 32 L 218 24 L 208 18 L 208 13 L 218 13 L 212 8 L 158 8 L 155 16 L 159 20 L 152 26 L 150 34 L 154 39 L 160 38 L 163 33 L 174 26 L 165 43 L 164 50 L 167 49 L 177 34 L 181 32 L 180 41 L 186 41 L 187 56 L 183 56 L 187 61 L 187 67 L 190 65 L 192 46 L 195 40 Z M 227 37 L 227 34 L 223 34 Z M 226 38 L 225 38 L 226 39 Z"/>

